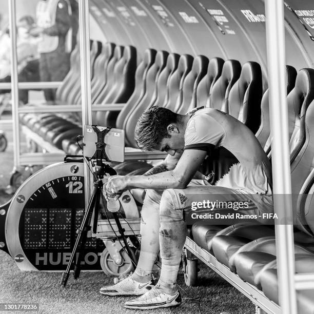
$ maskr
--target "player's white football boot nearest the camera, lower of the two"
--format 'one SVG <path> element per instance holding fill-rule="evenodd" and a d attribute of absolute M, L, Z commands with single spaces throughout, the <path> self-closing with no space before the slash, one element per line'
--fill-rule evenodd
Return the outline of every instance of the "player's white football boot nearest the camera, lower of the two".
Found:
<path fill-rule="evenodd" d="M 124 304 L 126 308 L 135 309 L 152 309 L 159 307 L 176 306 L 181 303 L 180 292 L 176 292 L 174 296 L 162 292 L 158 287 L 152 287 L 145 295 L 127 301 Z"/>

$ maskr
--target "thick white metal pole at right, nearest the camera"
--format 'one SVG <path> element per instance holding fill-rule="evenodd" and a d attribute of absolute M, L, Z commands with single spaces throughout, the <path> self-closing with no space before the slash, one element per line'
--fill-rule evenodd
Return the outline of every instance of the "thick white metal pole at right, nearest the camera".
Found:
<path fill-rule="evenodd" d="M 282 0 L 266 0 L 266 40 L 271 160 L 274 210 L 278 217 L 292 217 L 288 110 L 286 100 L 286 55 Z M 292 223 L 276 224 L 276 253 L 279 303 L 284 314 L 297 313 L 295 290 L 295 254 Z"/>

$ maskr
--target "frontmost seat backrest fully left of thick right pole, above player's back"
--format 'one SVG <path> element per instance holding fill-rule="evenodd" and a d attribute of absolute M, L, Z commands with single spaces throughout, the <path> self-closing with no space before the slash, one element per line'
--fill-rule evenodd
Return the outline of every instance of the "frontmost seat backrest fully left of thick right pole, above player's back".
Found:
<path fill-rule="evenodd" d="M 242 66 L 239 80 L 231 87 L 228 113 L 245 124 L 254 134 L 261 120 L 262 70 L 257 62 Z"/>

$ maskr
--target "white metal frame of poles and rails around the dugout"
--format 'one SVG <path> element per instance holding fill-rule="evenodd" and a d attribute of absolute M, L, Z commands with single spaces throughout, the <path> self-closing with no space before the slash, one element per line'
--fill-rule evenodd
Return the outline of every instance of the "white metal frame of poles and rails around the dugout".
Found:
<path fill-rule="evenodd" d="M 32 153 L 21 155 L 19 150 L 19 123 L 18 115 L 26 112 L 53 112 L 56 108 L 49 106 L 18 108 L 18 88 L 44 88 L 56 87 L 60 82 L 53 83 L 19 83 L 17 82 L 16 62 L 16 33 L 15 33 L 15 0 L 9 1 L 10 32 L 11 36 L 11 82 L 1 84 L 0 87 L 12 86 L 12 117 L 13 117 L 13 141 L 14 141 L 14 167 L 35 163 L 51 163 L 61 160 L 61 151 L 52 153 Z M 107 104 L 102 108 L 91 106 L 90 88 L 90 63 L 89 61 L 89 8 L 88 0 L 80 0 L 79 3 L 79 31 L 80 31 L 80 53 L 81 53 L 81 86 L 82 86 L 82 108 L 80 106 L 66 105 L 58 106 L 58 110 L 81 111 L 82 124 L 91 124 L 92 110 L 120 110 L 123 106 Z M 289 165 L 288 134 L 287 129 L 287 105 L 285 95 L 285 37 L 284 37 L 284 14 L 282 0 L 265 0 L 266 7 L 266 38 L 267 38 L 267 59 L 268 59 L 268 82 L 270 87 L 270 125 L 272 130 L 272 174 L 274 211 L 279 215 L 283 211 L 291 215 L 291 198 L 285 198 L 284 204 L 279 203 L 276 194 L 291 194 L 291 177 Z M 49 85 L 50 84 L 50 85 Z M 274 106 L 277 104 L 277 106 Z M 278 105 L 279 104 L 279 105 Z M 277 117 L 276 121 L 274 117 Z M 161 159 L 161 153 L 127 153 L 126 159 Z M 89 199 L 91 175 L 87 166 L 85 174 L 85 201 Z M 101 232 L 100 232 L 101 233 Z M 100 234 L 99 234 L 100 235 Z M 210 253 L 201 249 L 192 240 L 187 238 L 185 247 L 219 273 L 224 279 L 240 290 L 258 307 L 268 313 L 297 313 L 296 289 L 313 289 L 314 273 L 296 274 L 293 248 L 292 225 L 276 225 L 276 250 L 278 263 L 278 285 L 279 300 L 281 307 L 267 299 L 263 292 L 252 285 L 243 282 L 236 274 L 232 273 L 226 266 L 217 261 Z"/>

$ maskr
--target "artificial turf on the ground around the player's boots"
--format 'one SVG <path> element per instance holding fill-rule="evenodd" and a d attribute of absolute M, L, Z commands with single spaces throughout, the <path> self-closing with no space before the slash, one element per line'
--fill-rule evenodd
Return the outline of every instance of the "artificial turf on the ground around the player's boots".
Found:
<path fill-rule="evenodd" d="M 254 313 L 253 304 L 225 280 L 201 265 L 197 287 L 186 287 L 180 271 L 178 283 L 183 303 L 181 306 L 158 310 L 128 310 L 123 307 L 132 297 L 107 297 L 99 289 L 113 282 L 102 272 L 82 272 L 80 279 L 69 278 L 60 287 L 61 272 L 22 272 L 5 252 L 0 252 L 0 303 L 38 303 L 40 313 L 198 313 L 201 296 L 202 313 Z"/>

